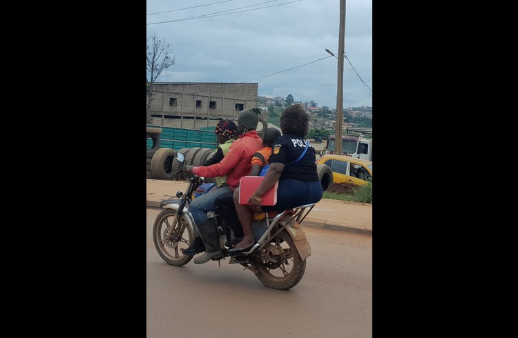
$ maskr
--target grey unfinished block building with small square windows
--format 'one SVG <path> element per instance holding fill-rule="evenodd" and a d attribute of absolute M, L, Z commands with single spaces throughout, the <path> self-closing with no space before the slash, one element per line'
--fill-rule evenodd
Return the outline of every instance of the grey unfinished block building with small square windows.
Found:
<path fill-rule="evenodd" d="M 258 83 L 155 82 L 148 124 L 199 129 L 257 107 Z"/>

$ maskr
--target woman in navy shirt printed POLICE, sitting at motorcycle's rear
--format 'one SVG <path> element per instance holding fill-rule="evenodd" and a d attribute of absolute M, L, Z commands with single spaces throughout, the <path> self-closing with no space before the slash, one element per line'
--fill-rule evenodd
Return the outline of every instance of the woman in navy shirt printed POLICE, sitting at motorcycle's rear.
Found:
<path fill-rule="evenodd" d="M 305 108 L 299 104 L 286 108 L 280 115 L 280 130 L 283 135 L 274 142 L 269 159 L 270 167 L 265 179 L 249 198 L 248 202 L 251 205 L 240 204 L 236 194 L 234 195 L 234 205 L 244 237 L 236 244 L 236 248 L 228 250 L 231 255 L 248 251 L 255 243 L 251 230 L 253 212 L 288 210 L 322 199 L 322 186 L 316 172 L 315 149 L 305 138 L 309 132 L 309 115 Z M 262 195 L 265 195 L 276 181 L 279 181 L 277 203 L 274 206 L 261 206 Z"/>

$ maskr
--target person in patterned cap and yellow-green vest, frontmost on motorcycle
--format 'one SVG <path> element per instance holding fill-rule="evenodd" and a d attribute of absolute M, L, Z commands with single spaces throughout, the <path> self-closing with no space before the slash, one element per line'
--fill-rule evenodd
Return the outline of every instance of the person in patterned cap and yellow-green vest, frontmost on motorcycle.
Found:
<path fill-rule="evenodd" d="M 214 128 L 214 132 L 216 137 L 218 138 L 218 150 L 216 150 L 215 154 L 203 163 L 202 166 L 212 166 L 215 163 L 220 163 L 220 161 L 227 155 L 227 152 L 229 152 L 229 148 L 233 141 L 236 141 L 238 139 L 238 127 L 236 126 L 236 123 L 233 123 L 233 121 L 230 121 L 229 119 L 222 119 L 218 122 L 218 124 Z M 224 177 L 215 177 L 216 186 L 226 186 L 227 185 L 227 176 Z M 236 213 L 236 212 L 234 212 Z M 236 215 L 236 219 L 237 219 Z M 238 220 L 239 222 L 239 220 Z M 196 237 L 194 240 L 193 245 L 189 246 L 189 248 L 186 248 L 182 250 L 182 253 L 187 256 L 192 256 L 197 253 L 203 252 L 205 250 L 205 246 L 202 242 L 202 239 L 200 237 Z"/>

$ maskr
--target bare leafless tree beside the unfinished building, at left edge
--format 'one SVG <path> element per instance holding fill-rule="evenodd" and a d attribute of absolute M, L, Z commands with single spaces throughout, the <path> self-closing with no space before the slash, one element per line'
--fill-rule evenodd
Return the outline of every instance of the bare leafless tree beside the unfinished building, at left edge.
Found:
<path fill-rule="evenodd" d="M 169 51 L 169 43 L 166 43 L 166 39 L 160 39 L 155 33 L 151 38 L 146 38 L 146 123 L 151 122 L 153 83 L 162 70 L 175 64 L 175 59 L 175 55 Z"/>

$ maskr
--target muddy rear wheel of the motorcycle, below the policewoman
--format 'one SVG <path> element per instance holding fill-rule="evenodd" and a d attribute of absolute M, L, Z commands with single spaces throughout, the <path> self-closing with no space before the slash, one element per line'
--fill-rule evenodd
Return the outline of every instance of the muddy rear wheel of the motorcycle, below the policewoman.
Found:
<path fill-rule="evenodd" d="M 295 243 L 286 230 L 276 237 L 271 246 L 281 250 L 280 255 L 275 255 L 269 250 L 269 246 L 262 249 L 261 254 L 271 257 L 262 261 L 251 261 L 256 269 L 256 277 L 268 288 L 276 290 L 288 290 L 298 284 L 306 270 L 306 260 L 301 259 Z"/>

